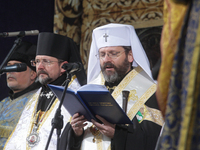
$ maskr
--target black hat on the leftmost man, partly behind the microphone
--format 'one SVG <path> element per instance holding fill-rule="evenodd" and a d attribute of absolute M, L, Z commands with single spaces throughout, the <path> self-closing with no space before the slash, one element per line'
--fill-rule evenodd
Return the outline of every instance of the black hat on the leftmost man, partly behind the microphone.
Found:
<path fill-rule="evenodd" d="M 35 59 L 36 54 L 36 45 L 22 41 L 20 45 L 16 48 L 16 50 L 11 55 L 10 60 L 17 60 L 22 63 L 25 63 L 32 70 L 36 70 L 35 67 L 31 66 L 31 60 Z"/>

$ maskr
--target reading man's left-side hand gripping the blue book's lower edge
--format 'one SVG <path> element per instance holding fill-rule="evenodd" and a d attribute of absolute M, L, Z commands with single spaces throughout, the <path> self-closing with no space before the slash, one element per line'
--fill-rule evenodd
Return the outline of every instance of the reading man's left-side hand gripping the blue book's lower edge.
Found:
<path fill-rule="evenodd" d="M 76 136 L 81 136 L 83 134 L 83 128 L 87 125 L 85 121 L 87 121 L 87 119 L 85 119 L 83 115 L 80 116 L 79 113 L 73 115 L 71 126 Z"/>

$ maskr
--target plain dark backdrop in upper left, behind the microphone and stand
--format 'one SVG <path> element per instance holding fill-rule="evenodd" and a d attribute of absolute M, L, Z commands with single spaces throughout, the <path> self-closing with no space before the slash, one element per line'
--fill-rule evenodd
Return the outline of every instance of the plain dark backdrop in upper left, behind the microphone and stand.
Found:
<path fill-rule="evenodd" d="M 54 0 L 1 0 L 0 33 L 39 30 L 53 32 Z M 0 64 L 17 37 L 0 37 Z M 37 36 L 25 36 L 24 41 L 37 44 Z M 0 100 L 8 96 L 5 74 L 0 76 Z"/>

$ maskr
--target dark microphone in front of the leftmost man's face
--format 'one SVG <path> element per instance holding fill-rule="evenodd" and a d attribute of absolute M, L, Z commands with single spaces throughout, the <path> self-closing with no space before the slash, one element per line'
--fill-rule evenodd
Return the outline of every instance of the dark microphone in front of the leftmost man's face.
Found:
<path fill-rule="evenodd" d="M 5 66 L 0 70 L 0 74 L 3 72 L 22 72 L 26 71 L 27 65 L 25 63 L 15 64 L 11 66 Z"/>

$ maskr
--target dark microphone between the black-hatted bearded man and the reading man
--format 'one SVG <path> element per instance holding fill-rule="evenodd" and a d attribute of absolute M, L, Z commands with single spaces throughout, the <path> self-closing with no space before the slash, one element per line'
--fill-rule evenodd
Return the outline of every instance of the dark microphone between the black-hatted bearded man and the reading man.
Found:
<path fill-rule="evenodd" d="M 62 68 L 66 70 L 69 73 L 78 72 L 81 70 L 81 63 L 75 62 L 75 63 L 65 63 L 63 64 Z"/>

